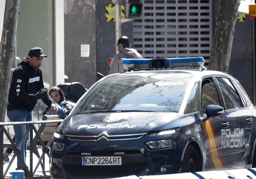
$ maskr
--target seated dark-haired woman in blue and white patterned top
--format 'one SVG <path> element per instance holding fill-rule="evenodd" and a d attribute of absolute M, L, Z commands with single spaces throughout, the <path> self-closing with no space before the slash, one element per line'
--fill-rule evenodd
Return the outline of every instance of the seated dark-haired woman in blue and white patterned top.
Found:
<path fill-rule="evenodd" d="M 58 112 L 53 114 L 53 111 L 47 107 L 43 112 L 43 115 L 58 115 L 61 119 L 67 117 L 67 112 L 70 112 L 75 106 L 75 103 L 66 101 L 63 91 L 59 87 L 52 87 L 49 91 L 51 99 L 54 101 L 54 104 L 58 107 Z"/>

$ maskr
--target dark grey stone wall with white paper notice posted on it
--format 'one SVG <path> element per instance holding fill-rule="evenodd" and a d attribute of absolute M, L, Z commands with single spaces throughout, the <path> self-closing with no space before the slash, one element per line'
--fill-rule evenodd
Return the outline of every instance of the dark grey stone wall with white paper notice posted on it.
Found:
<path fill-rule="evenodd" d="M 122 0 L 126 4 L 126 0 Z M 65 4 L 65 74 L 67 82 L 86 88 L 96 81 L 96 73 L 108 74 L 107 60 L 116 53 L 115 22 L 106 22 L 106 5 L 111 0 L 67 0 Z M 133 22 L 122 23 L 122 34 L 133 42 Z M 81 46 L 89 45 L 88 56 Z"/>

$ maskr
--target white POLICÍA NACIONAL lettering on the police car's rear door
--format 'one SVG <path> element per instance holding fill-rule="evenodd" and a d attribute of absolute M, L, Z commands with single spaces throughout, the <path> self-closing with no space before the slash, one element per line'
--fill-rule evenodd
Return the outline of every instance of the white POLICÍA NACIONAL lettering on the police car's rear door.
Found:
<path fill-rule="evenodd" d="M 248 147 L 250 145 L 249 140 L 244 138 L 243 128 L 221 129 L 221 137 L 221 148 Z"/>

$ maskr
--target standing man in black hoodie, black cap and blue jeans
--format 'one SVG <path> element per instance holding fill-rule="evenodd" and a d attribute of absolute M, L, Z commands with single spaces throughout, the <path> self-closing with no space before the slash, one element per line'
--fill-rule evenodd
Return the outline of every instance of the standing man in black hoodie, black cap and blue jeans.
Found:
<path fill-rule="evenodd" d="M 28 53 L 28 58 L 24 58 L 18 67 L 12 73 L 12 81 L 8 95 L 7 116 L 11 122 L 32 121 L 33 109 L 38 99 L 50 107 L 54 113 L 58 108 L 51 100 L 48 91 L 44 89 L 43 73 L 40 68 L 43 58 L 47 56 L 43 54 L 41 48 L 33 48 Z M 16 137 L 16 146 L 18 146 L 25 135 L 28 125 L 14 125 Z M 27 141 L 21 146 L 21 156 L 26 161 Z M 18 160 L 17 170 L 23 170 L 23 163 L 20 158 Z"/>

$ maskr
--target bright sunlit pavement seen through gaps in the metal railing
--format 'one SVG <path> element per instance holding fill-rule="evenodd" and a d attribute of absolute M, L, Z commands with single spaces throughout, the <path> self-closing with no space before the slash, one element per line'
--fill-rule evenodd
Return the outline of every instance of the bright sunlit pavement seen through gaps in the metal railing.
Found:
<path fill-rule="evenodd" d="M 4 151 L 6 150 L 6 148 L 4 148 Z M 40 156 L 42 155 L 42 149 L 38 149 L 39 153 L 40 153 Z M 9 155 L 9 159 L 11 160 L 12 156 L 13 156 L 14 153 L 12 153 L 11 155 Z M 37 156 L 35 154 L 33 154 L 33 170 L 35 169 L 36 167 L 36 164 L 37 162 L 39 161 L 39 159 L 37 158 Z M 42 163 L 43 163 L 43 160 L 42 160 Z M 27 157 L 26 157 L 26 164 L 28 166 L 28 169 L 30 168 L 30 151 L 27 150 Z M 9 165 L 9 163 L 5 163 L 4 166 L 3 166 L 3 171 L 5 173 L 5 170 L 7 168 L 7 166 Z M 11 174 L 10 172 L 13 172 L 15 171 L 17 168 L 17 157 L 14 159 L 14 161 L 12 162 L 5 178 L 8 178 L 8 179 L 11 179 Z M 45 172 L 46 172 L 46 175 L 50 176 L 50 170 L 49 170 L 49 157 L 47 154 L 45 154 Z M 37 171 L 35 172 L 35 175 L 34 177 L 36 176 L 44 176 L 43 174 L 43 170 L 42 170 L 42 167 L 41 165 L 39 165 L 39 167 L 37 168 Z M 45 177 L 45 179 L 48 179 L 49 177 Z M 44 179 L 44 178 L 42 178 Z"/>

